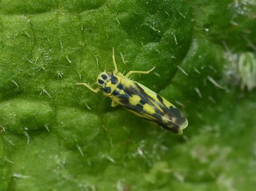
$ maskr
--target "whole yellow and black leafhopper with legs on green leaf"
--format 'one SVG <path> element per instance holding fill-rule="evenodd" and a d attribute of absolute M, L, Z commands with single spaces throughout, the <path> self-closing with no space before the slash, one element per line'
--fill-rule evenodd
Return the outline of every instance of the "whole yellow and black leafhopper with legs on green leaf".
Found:
<path fill-rule="evenodd" d="M 100 73 L 97 77 L 98 87 L 96 89 L 93 89 L 87 83 L 77 84 L 86 86 L 94 93 L 103 90 L 103 94 L 112 99 L 111 107 L 122 105 L 125 109 L 143 119 L 154 122 L 174 133 L 182 134 L 183 129 L 188 125 L 185 115 L 165 98 L 142 84 L 129 79 L 131 74 L 149 74 L 155 67 L 148 71 L 131 70 L 123 75 L 118 72 L 114 59 L 114 48 L 112 59 L 114 71 Z"/>

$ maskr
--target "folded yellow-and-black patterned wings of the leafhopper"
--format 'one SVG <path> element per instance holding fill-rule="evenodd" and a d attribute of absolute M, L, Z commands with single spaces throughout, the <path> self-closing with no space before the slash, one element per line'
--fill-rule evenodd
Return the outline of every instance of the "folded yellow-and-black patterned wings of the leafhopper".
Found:
<path fill-rule="evenodd" d="M 173 104 L 142 84 L 125 77 L 110 97 L 139 117 L 174 133 L 182 134 L 188 125 L 185 115 Z"/>

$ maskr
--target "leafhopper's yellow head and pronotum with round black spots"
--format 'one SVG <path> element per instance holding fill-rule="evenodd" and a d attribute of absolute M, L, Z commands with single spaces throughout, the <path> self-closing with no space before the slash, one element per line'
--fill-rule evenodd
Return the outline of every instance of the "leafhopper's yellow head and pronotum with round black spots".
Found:
<path fill-rule="evenodd" d="M 106 95 L 111 95 L 120 82 L 120 77 L 110 72 L 103 72 L 99 74 L 97 78 L 99 88 L 102 89 Z"/>

